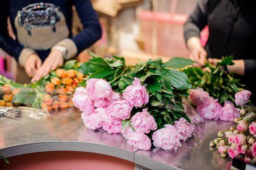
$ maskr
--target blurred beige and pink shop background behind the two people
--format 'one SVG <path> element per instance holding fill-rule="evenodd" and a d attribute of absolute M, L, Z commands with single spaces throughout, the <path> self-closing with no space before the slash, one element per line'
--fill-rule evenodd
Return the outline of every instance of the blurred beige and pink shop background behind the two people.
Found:
<path fill-rule="evenodd" d="M 125 57 L 128 64 L 140 58 L 188 57 L 183 37 L 183 24 L 196 5 L 196 0 L 91 0 L 102 25 L 102 38 L 75 59 L 86 62 L 91 56 Z M 73 7 L 73 35 L 82 30 L 75 7 Z M 208 29 L 201 32 L 205 45 Z M 9 35 L 15 39 L 9 24 Z M 14 79 L 16 61 L 0 49 L 0 74 Z"/>

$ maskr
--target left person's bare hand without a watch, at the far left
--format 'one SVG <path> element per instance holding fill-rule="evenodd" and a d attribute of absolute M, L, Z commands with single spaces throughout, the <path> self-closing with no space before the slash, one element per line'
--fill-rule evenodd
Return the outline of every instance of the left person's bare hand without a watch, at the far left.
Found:
<path fill-rule="evenodd" d="M 36 74 L 36 71 L 40 69 L 42 61 L 36 54 L 31 54 L 25 63 L 25 71 L 28 76 L 33 77 Z"/>

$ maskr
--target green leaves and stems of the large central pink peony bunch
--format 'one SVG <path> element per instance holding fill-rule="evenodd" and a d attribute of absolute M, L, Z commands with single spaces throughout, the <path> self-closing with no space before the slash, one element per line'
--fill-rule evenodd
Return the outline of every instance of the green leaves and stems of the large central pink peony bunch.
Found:
<path fill-rule="evenodd" d="M 193 86 L 185 73 L 174 69 L 191 65 L 194 63 L 191 59 L 175 57 L 163 63 L 161 58 L 156 58 L 135 66 L 126 66 L 123 57 L 99 58 L 94 53 L 89 53 L 93 59 L 78 67 L 81 69 L 79 71 L 89 76 L 89 79 L 106 79 L 116 92 L 125 90 L 135 77 L 146 87 L 149 103 L 142 108 L 133 108 L 131 114 L 148 108 L 148 112 L 157 121 L 158 129 L 163 128 L 165 124 L 173 124 L 181 117 L 190 121 L 184 113 L 182 97 L 188 96 L 187 91 Z M 82 68 L 85 70 L 82 71 Z M 123 121 L 123 128 L 129 125 L 130 120 Z"/>

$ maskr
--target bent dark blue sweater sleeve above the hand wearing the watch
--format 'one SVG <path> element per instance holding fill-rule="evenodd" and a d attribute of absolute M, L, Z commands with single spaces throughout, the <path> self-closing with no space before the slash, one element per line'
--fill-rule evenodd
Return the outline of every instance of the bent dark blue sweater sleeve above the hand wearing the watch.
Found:
<path fill-rule="evenodd" d="M 74 5 L 83 24 L 83 30 L 72 38 L 80 53 L 100 39 L 102 29 L 90 0 L 74 0 Z"/>

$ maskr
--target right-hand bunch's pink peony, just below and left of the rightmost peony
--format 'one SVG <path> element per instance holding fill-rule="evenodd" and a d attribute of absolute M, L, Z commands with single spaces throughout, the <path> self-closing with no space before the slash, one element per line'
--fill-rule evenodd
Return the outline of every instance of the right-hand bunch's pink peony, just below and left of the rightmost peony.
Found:
<path fill-rule="evenodd" d="M 234 107 L 233 103 L 226 100 L 224 107 L 220 111 L 220 120 L 232 122 L 234 121 L 234 118 L 240 116 L 239 111 L 239 108 Z"/>

